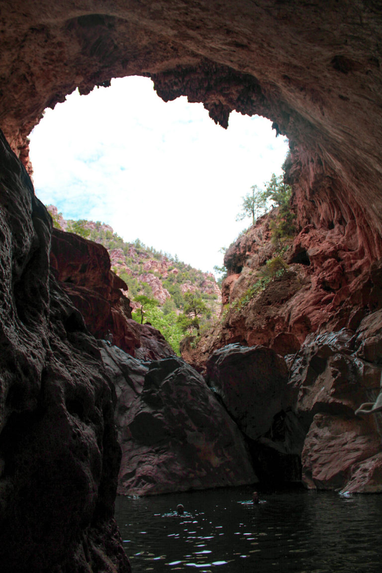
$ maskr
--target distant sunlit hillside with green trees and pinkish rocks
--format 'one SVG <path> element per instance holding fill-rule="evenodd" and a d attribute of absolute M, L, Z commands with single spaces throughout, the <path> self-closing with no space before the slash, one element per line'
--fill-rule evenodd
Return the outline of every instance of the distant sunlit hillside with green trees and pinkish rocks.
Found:
<path fill-rule="evenodd" d="M 160 330 L 177 354 L 184 336 L 199 336 L 219 316 L 221 293 L 212 273 L 194 269 L 178 256 L 144 245 L 139 239 L 126 242 L 101 221 L 66 220 L 57 207 L 47 208 L 58 229 L 108 250 L 112 270 L 128 285 L 133 318 Z"/>

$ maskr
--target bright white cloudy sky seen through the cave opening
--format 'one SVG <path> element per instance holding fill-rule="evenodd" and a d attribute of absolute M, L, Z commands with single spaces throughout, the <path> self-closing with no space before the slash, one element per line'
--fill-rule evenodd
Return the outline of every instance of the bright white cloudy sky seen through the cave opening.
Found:
<path fill-rule="evenodd" d="M 233 112 L 223 129 L 202 104 L 164 103 L 143 77 L 72 93 L 46 110 L 30 142 L 45 205 L 204 271 L 222 265 L 219 249 L 250 225 L 235 222 L 242 196 L 280 174 L 288 151 L 269 120 Z"/>

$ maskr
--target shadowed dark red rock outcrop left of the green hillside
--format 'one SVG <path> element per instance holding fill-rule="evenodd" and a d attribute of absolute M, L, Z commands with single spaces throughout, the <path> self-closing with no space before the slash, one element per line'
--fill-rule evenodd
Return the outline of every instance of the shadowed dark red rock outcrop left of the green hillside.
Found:
<path fill-rule="evenodd" d="M 112 272 L 102 245 L 53 229 L 50 265 L 96 338 L 108 339 L 111 333 L 113 344 L 140 358 L 174 354 L 159 331 L 131 319 L 130 301 L 124 295 L 127 285 Z"/>

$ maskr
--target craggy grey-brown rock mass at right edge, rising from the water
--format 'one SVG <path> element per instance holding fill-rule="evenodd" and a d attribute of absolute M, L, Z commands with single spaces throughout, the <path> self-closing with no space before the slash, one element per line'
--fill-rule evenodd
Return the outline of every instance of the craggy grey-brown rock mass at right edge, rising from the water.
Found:
<path fill-rule="evenodd" d="M 302 480 L 308 488 L 381 492 L 382 417 L 356 415 L 380 392 L 380 311 L 348 329 L 310 336 L 290 366 L 297 414 L 308 430 Z M 372 360 L 371 360 L 372 359 Z"/>

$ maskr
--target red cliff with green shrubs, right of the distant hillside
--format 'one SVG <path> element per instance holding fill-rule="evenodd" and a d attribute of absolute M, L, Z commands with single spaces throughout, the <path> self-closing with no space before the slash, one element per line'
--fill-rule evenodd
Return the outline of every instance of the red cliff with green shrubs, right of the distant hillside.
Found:
<path fill-rule="evenodd" d="M 234 342 L 293 354 L 309 333 L 355 331 L 381 308 L 381 263 L 361 248 L 354 221 L 306 225 L 279 255 L 270 229 L 276 216 L 277 209 L 263 215 L 227 250 L 220 324 L 190 358 L 199 369 L 213 350 Z M 276 256 L 283 269 L 270 276 L 266 263 Z"/>

